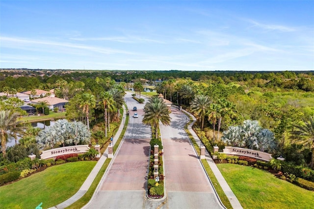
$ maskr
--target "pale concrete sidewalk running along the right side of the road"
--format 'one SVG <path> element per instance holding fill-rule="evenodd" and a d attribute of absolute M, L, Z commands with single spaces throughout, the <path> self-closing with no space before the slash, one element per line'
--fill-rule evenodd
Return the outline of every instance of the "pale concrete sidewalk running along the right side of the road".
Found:
<path fill-rule="evenodd" d="M 187 129 L 190 131 L 190 133 L 193 136 L 196 143 L 200 146 L 201 140 L 192 129 L 193 124 L 196 122 L 196 118 L 192 114 L 189 114 L 189 112 L 185 111 L 184 109 L 182 109 L 182 111 L 185 112 L 186 115 L 189 115 L 189 117 L 191 117 L 193 119 L 193 122 L 187 126 Z M 218 167 L 216 166 L 216 164 L 214 163 L 214 161 L 212 160 L 211 156 L 209 155 L 209 153 L 206 149 L 205 149 L 205 158 L 206 158 L 212 172 L 214 173 L 217 181 L 219 182 L 222 190 L 225 192 L 226 196 L 228 197 L 232 207 L 234 209 L 242 209 L 240 202 L 236 198 L 235 194 L 233 193 L 233 191 L 229 187 L 228 183 L 226 182 L 226 180 L 224 179 L 224 177 L 220 173 Z"/>

